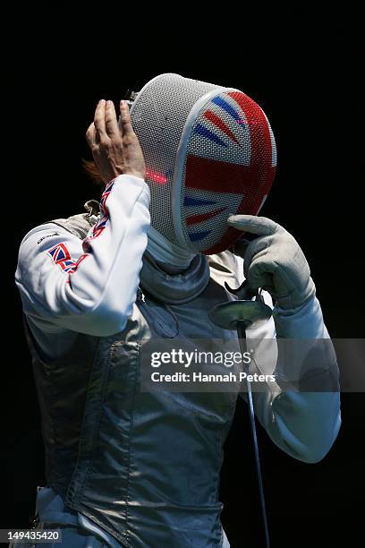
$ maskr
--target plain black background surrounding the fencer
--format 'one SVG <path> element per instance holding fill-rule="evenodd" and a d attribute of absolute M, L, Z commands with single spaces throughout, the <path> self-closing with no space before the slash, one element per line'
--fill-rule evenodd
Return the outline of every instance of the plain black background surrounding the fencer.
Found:
<path fill-rule="evenodd" d="M 176 18 L 174 25 L 142 25 L 128 8 L 106 18 L 98 6 L 90 26 L 71 30 L 68 21 L 55 31 L 54 17 L 40 30 L 10 33 L 3 67 L 3 120 L 9 119 L 3 134 L 10 144 L 3 211 L 10 213 L 5 239 L 13 255 L 6 260 L 4 299 L 11 301 L 4 305 L 4 323 L 10 331 L 3 345 L 11 342 L 12 350 L 2 364 L 10 373 L 2 385 L 3 397 L 9 396 L 2 470 L 3 485 L 13 479 L 13 486 L 4 488 L 1 527 L 28 526 L 35 487 L 44 481 L 38 404 L 13 284 L 17 249 L 31 227 L 82 212 L 84 201 L 98 199 L 81 158 L 89 158 L 84 133 L 99 98 L 117 105 L 127 88 L 139 90 L 158 73 L 174 72 L 241 89 L 259 102 L 278 150 L 276 182 L 261 214 L 300 242 L 331 335 L 364 336 L 357 16 L 318 21 L 314 13 L 305 19 L 298 13 L 263 25 L 259 16 L 244 15 L 228 25 L 227 14 L 217 10 L 209 31 L 204 14 L 199 24 L 191 16 L 181 27 Z M 100 21 L 110 31 L 99 32 Z M 364 544 L 363 395 L 344 394 L 342 407 L 335 446 L 316 465 L 287 457 L 259 429 L 273 546 L 340 546 L 340 539 Z M 249 423 L 240 404 L 225 446 L 221 489 L 233 548 L 263 546 L 257 496 Z"/>

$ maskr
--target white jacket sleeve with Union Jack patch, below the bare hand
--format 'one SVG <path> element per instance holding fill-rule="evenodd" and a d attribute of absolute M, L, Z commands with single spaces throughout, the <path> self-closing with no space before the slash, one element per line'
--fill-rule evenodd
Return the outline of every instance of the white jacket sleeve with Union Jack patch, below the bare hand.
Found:
<path fill-rule="evenodd" d="M 84 240 L 47 223 L 21 242 L 15 282 L 38 330 L 102 337 L 123 330 L 132 313 L 150 223 L 149 186 L 118 176 L 100 204 L 100 221 Z"/>

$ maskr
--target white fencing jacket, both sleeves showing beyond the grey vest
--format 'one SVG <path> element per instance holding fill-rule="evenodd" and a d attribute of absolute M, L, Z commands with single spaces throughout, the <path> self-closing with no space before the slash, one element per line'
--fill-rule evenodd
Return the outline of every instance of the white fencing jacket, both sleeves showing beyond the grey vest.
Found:
<path fill-rule="evenodd" d="M 138 177 L 123 175 L 106 187 L 106 195 L 108 216 L 83 241 L 47 223 L 30 230 L 21 242 L 15 281 L 38 347 L 50 358 L 63 355 L 78 332 L 103 337 L 123 330 L 132 313 L 148 243 L 149 187 Z M 232 257 L 240 283 L 242 260 Z M 214 261 L 220 261 L 219 255 Z M 272 307 L 270 295 L 264 292 L 264 297 Z M 316 296 L 297 310 L 276 308 L 270 321 L 247 331 L 248 338 L 276 336 L 328 338 Z M 275 365 L 268 360 L 259 373 L 263 368 L 270 373 Z M 334 367 L 321 364 L 319 374 L 326 378 L 328 370 L 333 375 Z M 271 440 L 305 462 L 324 458 L 340 428 L 338 391 L 281 392 L 267 387 L 254 394 L 254 403 Z"/>

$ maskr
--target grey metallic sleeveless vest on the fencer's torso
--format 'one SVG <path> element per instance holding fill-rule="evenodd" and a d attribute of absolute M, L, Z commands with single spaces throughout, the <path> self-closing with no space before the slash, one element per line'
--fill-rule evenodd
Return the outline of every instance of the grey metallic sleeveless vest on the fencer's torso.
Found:
<path fill-rule="evenodd" d="M 90 227 L 86 214 L 53 222 L 81 238 Z M 209 307 L 227 299 L 224 270 L 209 279 L 192 308 L 204 299 Z M 183 306 L 171 310 L 180 326 L 193 321 Z M 140 391 L 140 346 L 162 337 L 164 314 L 168 325 L 163 304 L 138 298 L 122 332 L 78 334 L 54 361 L 41 358 L 26 325 L 47 485 L 123 546 L 218 547 L 219 473 L 237 395 Z"/>

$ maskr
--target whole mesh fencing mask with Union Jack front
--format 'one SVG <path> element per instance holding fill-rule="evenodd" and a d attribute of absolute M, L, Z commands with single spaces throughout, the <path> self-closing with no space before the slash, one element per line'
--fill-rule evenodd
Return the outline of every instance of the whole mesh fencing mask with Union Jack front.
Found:
<path fill-rule="evenodd" d="M 146 160 L 151 224 L 194 253 L 242 235 L 230 214 L 257 215 L 276 170 L 274 135 L 242 91 L 161 74 L 137 94 L 132 124 Z"/>

